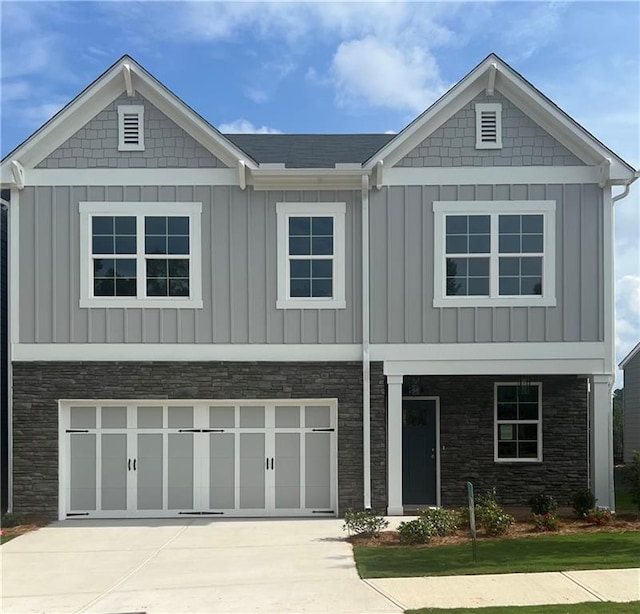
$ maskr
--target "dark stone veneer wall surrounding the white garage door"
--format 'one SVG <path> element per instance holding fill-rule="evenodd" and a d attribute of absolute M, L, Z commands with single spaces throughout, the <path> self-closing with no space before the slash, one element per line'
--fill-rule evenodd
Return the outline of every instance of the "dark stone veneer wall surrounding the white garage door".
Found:
<path fill-rule="evenodd" d="M 362 508 L 359 362 L 29 362 L 13 364 L 13 509 L 58 510 L 58 399 L 338 399 L 338 506 Z M 373 507 L 386 506 L 382 363 L 371 365 Z"/>

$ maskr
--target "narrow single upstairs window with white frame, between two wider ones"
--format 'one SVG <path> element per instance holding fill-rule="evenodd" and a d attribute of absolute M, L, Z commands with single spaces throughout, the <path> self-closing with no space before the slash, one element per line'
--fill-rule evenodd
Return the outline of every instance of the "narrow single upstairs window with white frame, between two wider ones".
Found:
<path fill-rule="evenodd" d="M 345 203 L 278 203 L 279 309 L 343 309 Z"/>

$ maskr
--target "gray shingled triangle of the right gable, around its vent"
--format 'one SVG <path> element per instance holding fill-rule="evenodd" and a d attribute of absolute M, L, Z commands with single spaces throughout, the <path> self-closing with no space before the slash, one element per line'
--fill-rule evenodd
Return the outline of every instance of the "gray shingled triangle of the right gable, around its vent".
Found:
<path fill-rule="evenodd" d="M 502 147 L 476 148 L 476 104 L 502 105 Z M 482 93 L 467 103 L 395 166 L 583 166 L 506 96 Z"/>

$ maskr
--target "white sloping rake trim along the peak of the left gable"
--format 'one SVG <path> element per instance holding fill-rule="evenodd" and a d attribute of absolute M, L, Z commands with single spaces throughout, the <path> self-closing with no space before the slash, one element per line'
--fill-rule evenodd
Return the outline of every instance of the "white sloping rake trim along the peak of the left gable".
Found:
<path fill-rule="evenodd" d="M 125 84 L 125 79 L 122 76 L 125 65 L 129 66 L 131 88 L 140 93 L 214 156 L 231 168 L 236 168 L 239 160 L 244 160 L 248 168 L 255 168 L 254 161 L 248 158 L 242 150 L 206 123 L 134 60 L 124 56 L 35 134 L 11 152 L 2 162 L 3 177 L 5 176 L 5 165 L 10 164 L 13 160 L 20 160 L 25 169 L 35 168 L 107 105 L 126 92 L 128 84 Z"/>

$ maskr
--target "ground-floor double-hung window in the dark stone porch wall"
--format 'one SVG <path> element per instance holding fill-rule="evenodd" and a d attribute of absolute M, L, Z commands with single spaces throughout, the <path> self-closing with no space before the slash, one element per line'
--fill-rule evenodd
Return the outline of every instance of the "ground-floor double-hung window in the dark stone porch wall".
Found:
<path fill-rule="evenodd" d="M 495 460 L 542 460 L 542 384 L 495 384 Z"/>

